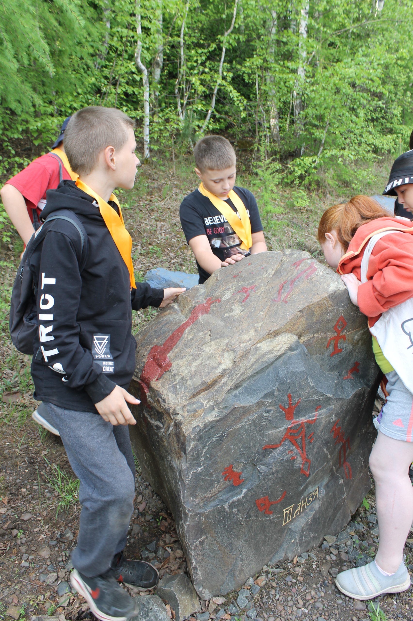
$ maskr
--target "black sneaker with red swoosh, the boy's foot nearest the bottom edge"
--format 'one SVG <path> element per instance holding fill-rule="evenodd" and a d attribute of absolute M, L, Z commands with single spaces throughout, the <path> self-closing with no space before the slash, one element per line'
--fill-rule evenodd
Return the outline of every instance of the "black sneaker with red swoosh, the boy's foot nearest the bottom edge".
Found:
<path fill-rule="evenodd" d="M 135 602 L 109 573 L 87 578 L 73 569 L 70 582 L 102 621 L 127 621 L 136 615 Z"/>

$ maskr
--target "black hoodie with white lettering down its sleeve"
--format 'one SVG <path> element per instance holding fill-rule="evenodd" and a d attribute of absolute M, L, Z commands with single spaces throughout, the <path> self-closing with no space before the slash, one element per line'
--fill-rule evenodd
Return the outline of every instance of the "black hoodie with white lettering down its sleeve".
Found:
<path fill-rule="evenodd" d="M 117 210 L 114 203 L 111 206 Z M 47 235 L 30 263 L 35 274 L 39 331 L 33 343 L 35 399 L 66 409 L 97 412 L 115 384 L 127 389 L 135 368 L 131 309 L 160 306 L 163 289 L 136 283 L 93 197 L 62 181 L 47 192 L 43 220 L 58 209 L 76 213 L 89 252 L 80 273 L 81 237 L 66 220 L 46 223 Z"/>

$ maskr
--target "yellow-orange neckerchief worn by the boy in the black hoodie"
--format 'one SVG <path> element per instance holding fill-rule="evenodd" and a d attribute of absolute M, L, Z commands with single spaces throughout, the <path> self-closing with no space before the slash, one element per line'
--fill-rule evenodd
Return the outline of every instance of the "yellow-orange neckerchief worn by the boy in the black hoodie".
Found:
<path fill-rule="evenodd" d="M 125 223 L 123 222 L 122 217 L 122 210 L 120 209 L 120 204 L 117 197 L 115 196 L 115 194 L 111 194 L 109 201 L 113 201 L 117 204 L 119 209 L 119 215 L 117 214 L 115 209 L 113 209 L 113 207 L 110 207 L 110 205 L 107 204 L 107 202 L 104 201 L 104 199 L 102 199 L 99 194 L 96 194 L 92 190 L 92 188 L 89 188 L 86 183 L 83 183 L 83 181 L 81 181 L 80 179 L 76 179 L 76 186 L 78 186 L 80 190 L 86 192 L 86 194 L 89 194 L 89 196 L 94 197 L 95 201 L 97 201 L 97 204 L 99 205 L 100 215 L 104 219 L 105 225 L 107 226 L 109 233 L 112 236 L 113 242 L 115 242 L 116 247 L 120 252 L 120 256 L 122 256 L 123 261 L 125 261 L 125 265 L 129 270 L 131 289 L 136 289 L 131 257 L 132 238 L 125 228 Z"/>

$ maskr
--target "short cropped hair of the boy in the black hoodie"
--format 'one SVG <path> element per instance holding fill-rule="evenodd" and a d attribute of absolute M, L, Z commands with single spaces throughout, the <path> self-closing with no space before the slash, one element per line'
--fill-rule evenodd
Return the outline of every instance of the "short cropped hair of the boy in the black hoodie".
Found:
<path fill-rule="evenodd" d="M 120 149 L 135 129 L 135 121 L 117 108 L 89 106 L 79 110 L 64 132 L 64 151 L 74 173 L 89 175 L 106 147 Z"/>

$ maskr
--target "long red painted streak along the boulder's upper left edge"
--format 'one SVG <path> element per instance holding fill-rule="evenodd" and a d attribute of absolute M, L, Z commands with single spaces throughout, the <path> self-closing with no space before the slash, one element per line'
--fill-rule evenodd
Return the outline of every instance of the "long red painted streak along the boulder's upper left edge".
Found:
<path fill-rule="evenodd" d="M 213 300 L 211 297 L 207 297 L 205 302 L 197 304 L 197 306 L 192 309 L 188 319 L 172 332 L 163 345 L 154 345 L 154 347 L 151 348 L 139 379 L 139 383 L 141 384 L 141 402 L 144 405 L 148 405 L 146 395 L 149 392 L 149 384 L 151 381 L 154 379 L 161 379 L 162 375 L 166 371 L 169 371 L 172 366 L 168 354 L 171 353 L 185 330 L 194 324 L 202 315 L 208 315 L 211 310 L 211 305 L 215 304 L 215 302 L 221 302 L 221 299 Z"/>

